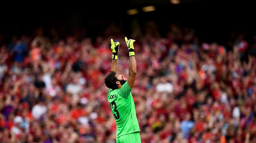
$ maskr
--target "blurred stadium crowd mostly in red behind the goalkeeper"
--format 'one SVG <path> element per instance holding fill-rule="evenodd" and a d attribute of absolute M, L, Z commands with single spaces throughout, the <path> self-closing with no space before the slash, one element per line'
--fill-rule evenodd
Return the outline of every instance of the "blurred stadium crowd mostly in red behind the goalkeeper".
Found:
<path fill-rule="evenodd" d="M 103 81 L 110 38 L 121 43 L 118 73 L 127 79 L 126 35 L 115 25 L 95 39 L 34 33 L 0 45 L 0 142 L 115 143 Z M 128 37 L 142 143 L 256 142 L 256 36 L 233 34 L 222 45 L 176 25 L 163 37 L 149 22 Z"/>

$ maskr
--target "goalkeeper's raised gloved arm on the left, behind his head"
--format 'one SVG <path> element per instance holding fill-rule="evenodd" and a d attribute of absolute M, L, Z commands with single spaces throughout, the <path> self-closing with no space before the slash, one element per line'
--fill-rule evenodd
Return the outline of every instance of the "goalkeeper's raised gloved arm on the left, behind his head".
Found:
<path fill-rule="evenodd" d="M 117 73 L 117 54 L 119 51 L 119 42 L 114 42 L 113 39 L 110 40 L 111 42 L 111 50 L 112 50 L 112 64 L 111 64 L 111 71 L 114 71 Z"/>

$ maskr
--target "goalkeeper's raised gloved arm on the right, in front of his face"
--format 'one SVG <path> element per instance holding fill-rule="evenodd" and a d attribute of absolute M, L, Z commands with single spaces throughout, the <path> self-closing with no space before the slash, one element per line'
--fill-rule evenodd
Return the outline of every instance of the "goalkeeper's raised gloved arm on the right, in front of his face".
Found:
<path fill-rule="evenodd" d="M 137 75 L 137 64 L 136 64 L 136 60 L 135 60 L 135 53 L 134 53 L 134 46 L 133 46 L 133 42 L 135 42 L 135 40 L 133 40 L 133 39 L 128 40 L 127 37 L 125 37 L 125 42 L 129 49 L 129 57 L 130 57 L 128 84 L 129 84 L 130 88 L 132 88 L 134 81 L 135 81 L 135 77 Z"/>

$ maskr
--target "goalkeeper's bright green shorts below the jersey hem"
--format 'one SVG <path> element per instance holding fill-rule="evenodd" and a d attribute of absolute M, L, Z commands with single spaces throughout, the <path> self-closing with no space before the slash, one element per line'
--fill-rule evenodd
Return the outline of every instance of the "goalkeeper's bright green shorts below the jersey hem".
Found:
<path fill-rule="evenodd" d="M 139 131 L 117 137 L 117 143 L 141 143 Z"/>

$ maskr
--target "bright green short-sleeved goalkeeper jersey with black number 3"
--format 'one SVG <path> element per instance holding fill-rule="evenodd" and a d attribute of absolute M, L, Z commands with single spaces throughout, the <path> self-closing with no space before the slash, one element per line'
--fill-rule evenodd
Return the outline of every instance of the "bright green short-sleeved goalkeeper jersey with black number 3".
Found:
<path fill-rule="evenodd" d="M 108 101 L 117 125 L 116 137 L 140 131 L 128 82 L 120 89 L 109 89 Z"/>

